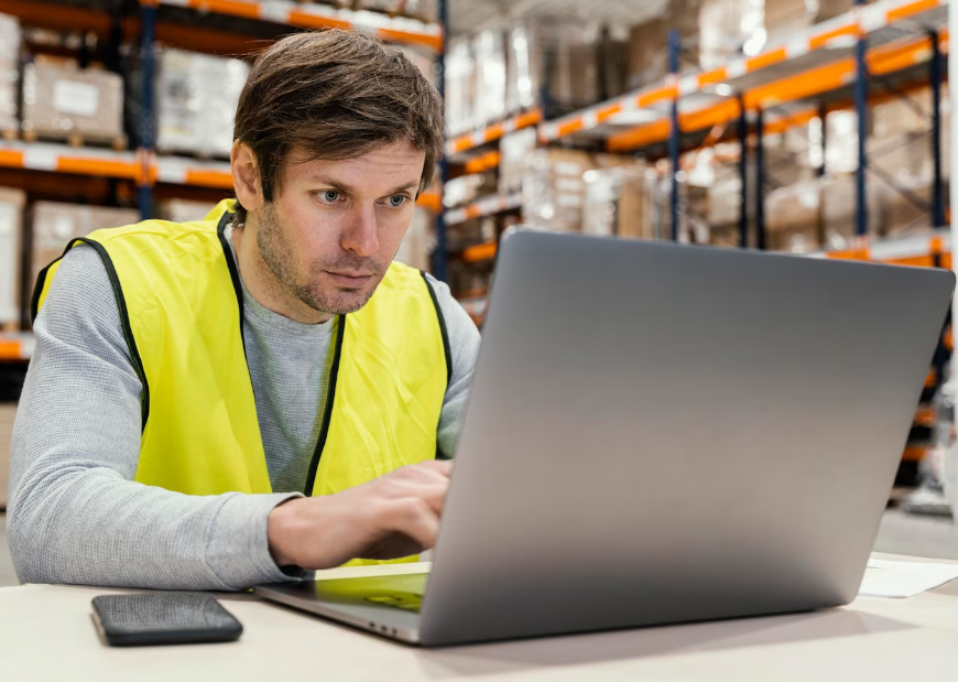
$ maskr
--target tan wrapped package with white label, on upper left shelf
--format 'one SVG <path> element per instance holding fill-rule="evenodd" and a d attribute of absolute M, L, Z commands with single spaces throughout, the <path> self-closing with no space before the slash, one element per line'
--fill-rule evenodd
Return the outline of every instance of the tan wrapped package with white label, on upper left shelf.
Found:
<path fill-rule="evenodd" d="M 23 67 L 24 133 L 41 138 L 126 145 L 123 79 L 117 74 L 78 68 L 73 63 L 37 59 Z"/>

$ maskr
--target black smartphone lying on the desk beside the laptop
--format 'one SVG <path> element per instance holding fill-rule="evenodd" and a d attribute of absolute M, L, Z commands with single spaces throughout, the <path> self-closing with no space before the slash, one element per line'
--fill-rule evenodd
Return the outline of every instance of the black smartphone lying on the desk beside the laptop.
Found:
<path fill-rule="evenodd" d="M 196 592 L 94 597 L 94 624 L 111 647 L 236 641 L 243 626 L 219 602 Z"/>

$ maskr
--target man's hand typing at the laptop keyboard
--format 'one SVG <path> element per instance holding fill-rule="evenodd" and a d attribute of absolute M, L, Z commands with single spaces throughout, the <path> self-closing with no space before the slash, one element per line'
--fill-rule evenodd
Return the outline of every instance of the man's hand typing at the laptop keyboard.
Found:
<path fill-rule="evenodd" d="M 279 566 L 318 570 L 431 549 L 451 472 L 451 462 L 423 462 L 337 495 L 280 505 L 268 522 L 270 553 Z"/>

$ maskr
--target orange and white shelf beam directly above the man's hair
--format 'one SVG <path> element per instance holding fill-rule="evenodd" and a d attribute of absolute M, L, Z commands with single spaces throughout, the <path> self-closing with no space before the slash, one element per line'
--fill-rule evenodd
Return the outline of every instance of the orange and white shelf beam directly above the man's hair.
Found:
<path fill-rule="evenodd" d="M 424 45 L 434 51 L 443 48 L 443 29 L 406 17 L 390 17 L 366 10 L 337 9 L 325 4 L 298 2 L 254 2 L 252 0 L 141 0 L 141 4 L 189 8 L 257 19 L 300 29 L 352 29 L 372 33 L 382 40 Z"/>

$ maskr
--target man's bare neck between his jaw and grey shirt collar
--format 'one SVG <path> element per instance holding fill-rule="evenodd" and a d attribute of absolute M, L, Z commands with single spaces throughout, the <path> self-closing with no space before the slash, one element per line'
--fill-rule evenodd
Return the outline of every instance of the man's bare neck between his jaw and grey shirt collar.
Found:
<path fill-rule="evenodd" d="M 303 324 L 323 324 L 333 317 L 309 307 L 283 286 L 260 253 L 255 229 L 236 225 L 232 229 L 232 246 L 240 277 L 257 303 L 277 315 Z"/>

